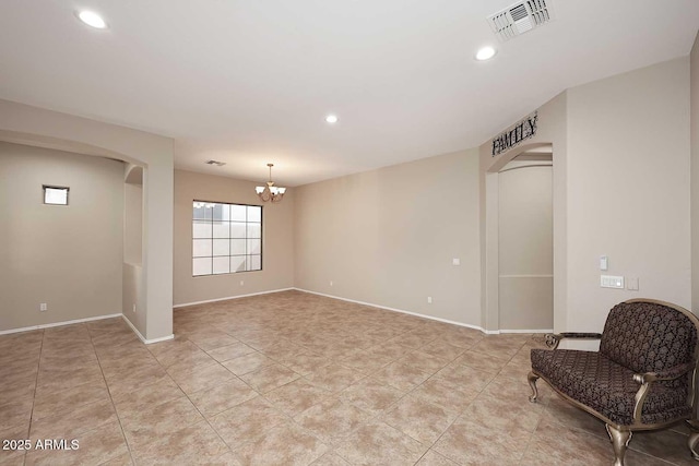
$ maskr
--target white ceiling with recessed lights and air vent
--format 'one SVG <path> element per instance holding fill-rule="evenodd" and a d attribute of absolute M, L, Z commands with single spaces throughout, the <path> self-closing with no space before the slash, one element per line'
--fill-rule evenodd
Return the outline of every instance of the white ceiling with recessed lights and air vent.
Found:
<path fill-rule="evenodd" d="M 699 28 L 697 0 L 546 1 L 553 22 L 498 44 L 486 17 L 512 0 L 2 0 L 0 98 L 298 186 L 477 146 L 568 87 L 686 56 Z"/>

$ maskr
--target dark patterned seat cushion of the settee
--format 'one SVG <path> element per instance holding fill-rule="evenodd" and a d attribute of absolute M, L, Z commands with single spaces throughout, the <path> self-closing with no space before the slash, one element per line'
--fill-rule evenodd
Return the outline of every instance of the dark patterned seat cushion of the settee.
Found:
<path fill-rule="evenodd" d="M 596 351 L 532 349 L 532 369 L 559 392 L 594 409 L 619 426 L 633 423 L 635 395 L 640 384 L 633 372 Z M 690 415 L 687 391 L 651 385 L 641 421 L 662 423 Z"/>

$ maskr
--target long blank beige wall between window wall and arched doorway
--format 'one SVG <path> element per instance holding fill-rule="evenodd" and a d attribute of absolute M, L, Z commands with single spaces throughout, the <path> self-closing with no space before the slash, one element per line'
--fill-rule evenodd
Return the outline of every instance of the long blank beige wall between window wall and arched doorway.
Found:
<path fill-rule="evenodd" d="M 297 188 L 296 287 L 479 325 L 477 176 L 470 150 Z"/>

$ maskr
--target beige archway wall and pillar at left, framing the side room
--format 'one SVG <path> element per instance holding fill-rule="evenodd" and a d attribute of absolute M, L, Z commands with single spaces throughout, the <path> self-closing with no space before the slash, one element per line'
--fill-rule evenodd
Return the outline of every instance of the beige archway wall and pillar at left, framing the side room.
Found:
<path fill-rule="evenodd" d="M 0 100 L 0 141 L 127 163 L 122 312 L 144 342 L 171 338 L 173 140 Z"/>

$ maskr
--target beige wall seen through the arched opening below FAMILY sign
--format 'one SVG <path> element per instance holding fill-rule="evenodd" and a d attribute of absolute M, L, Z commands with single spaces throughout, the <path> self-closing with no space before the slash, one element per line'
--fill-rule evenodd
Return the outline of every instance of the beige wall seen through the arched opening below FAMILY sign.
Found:
<path fill-rule="evenodd" d="M 550 162 L 509 163 L 499 172 L 500 328 L 554 326 Z"/>

